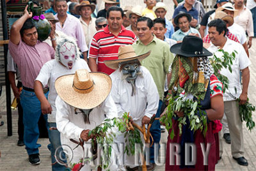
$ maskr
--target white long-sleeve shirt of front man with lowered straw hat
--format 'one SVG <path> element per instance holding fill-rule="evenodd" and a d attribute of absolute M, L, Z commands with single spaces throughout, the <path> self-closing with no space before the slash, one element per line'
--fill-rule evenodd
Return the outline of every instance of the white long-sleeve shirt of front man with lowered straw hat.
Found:
<path fill-rule="evenodd" d="M 92 130 L 101 124 L 105 118 L 111 119 L 113 117 L 117 117 L 117 112 L 111 96 L 108 96 L 98 107 L 93 108 L 89 116 L 90 124 L 85 124 L 83 114 L 75 114 L 75 108 L 61 100 L 60 96 L 56 98 L 56 125 L 61 133 L 61 145 L 64 145 L 64 147 L 68 145 L 71 149 L 74 149 L 77 144 L 71 142 L 70 138 L 79 142 L 83 130 Z M 84 144 L 84 149 L 90 147 L 90 143 Z M 77 147 L 72 153 L 67 155 L 69 160 L 71 160 L 70 163 L 78 163 L 83 156 L 83 149 Z"/>

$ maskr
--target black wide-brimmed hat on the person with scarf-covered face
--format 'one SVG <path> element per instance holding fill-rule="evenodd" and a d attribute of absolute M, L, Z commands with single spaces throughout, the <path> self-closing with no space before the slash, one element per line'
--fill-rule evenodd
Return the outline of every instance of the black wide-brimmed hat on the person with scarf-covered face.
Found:
<path fill-rule="evenodd" d="M 184 36 L 182 43 L 172 45 L 170 50 L 173 54 L 185 57 L 212 56 L 212 53 L 203 47 L 202 38 L 196 36 Z"/>

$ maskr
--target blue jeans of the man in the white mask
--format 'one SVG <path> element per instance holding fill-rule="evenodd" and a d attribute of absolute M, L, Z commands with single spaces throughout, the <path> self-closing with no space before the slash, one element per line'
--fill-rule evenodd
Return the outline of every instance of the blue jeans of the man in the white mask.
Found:
<path fill-rule="evenodd" d="M 49 128 L 55 127 L 56 128 L 56 123 L 49 123 Z M 60 163 L 56 162 L 56 158 L 54 156 L 55 151 L 58 147 L 61 146 L 60 142 L 60 132 L 58 130 L 49 130 L 49 139 L 51 142 L 51 160 L 52 164 L 52 171 L 58 171 L 58 170 L 65 170 L 66 167 L 64 165 L 60 165 Z M 63 158 L 63 156 L 62 156 Z M 64 156 L 65 158 L 65 156 Z M 67 161 L 63 161 L 64 163 L 67 163 Z"/>

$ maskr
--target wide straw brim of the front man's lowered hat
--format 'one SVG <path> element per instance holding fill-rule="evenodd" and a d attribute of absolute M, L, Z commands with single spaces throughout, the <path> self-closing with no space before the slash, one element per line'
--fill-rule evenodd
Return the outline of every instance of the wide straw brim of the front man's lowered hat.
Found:
<path fill-rule="evenodd" d="M 112 81 L 106 73 L 91 72 L 94 82 L 93 90 L 89 93 L 78 93 L 72 87 L 74 74 L 57 78 L 55 88 L 60 98 L 72 107 L 90 109 L 99 106 L 111 91 Z"/>

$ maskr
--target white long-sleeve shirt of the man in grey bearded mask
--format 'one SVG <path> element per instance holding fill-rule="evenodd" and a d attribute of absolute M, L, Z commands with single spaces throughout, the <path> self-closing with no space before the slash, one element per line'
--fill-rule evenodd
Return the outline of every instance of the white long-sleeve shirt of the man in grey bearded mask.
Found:
<path fill-rule="evenodd" d="M 152 75 L 147 68 L 140 66 L 143 77 L 136 78 L 136 94 L 132 94 L 132 85 L 127 80 L 122 80 L 122 73 L 119 70 L 114 71 L 110 77 L 112 79 L 111 96 L 117 107 L 118 117 L 124 112 L 134 121 L 142 119 L 144 115 L 152 117 L 156 114 L 159 94 Z"/>

